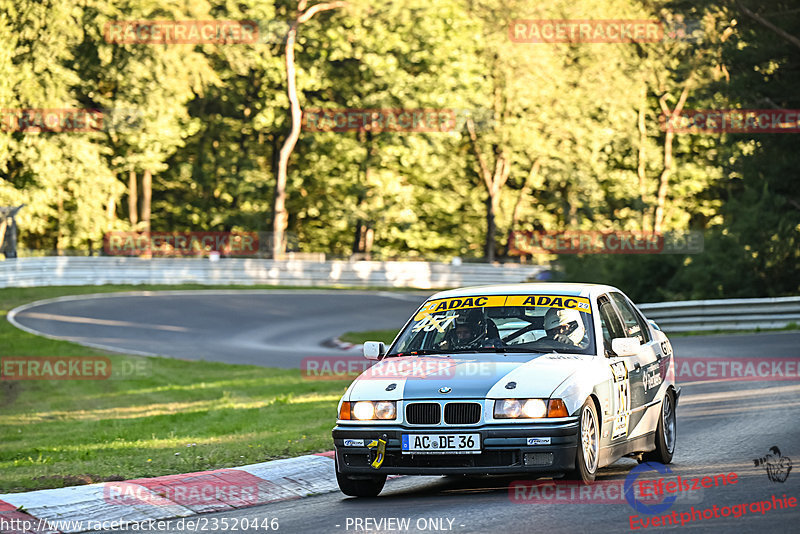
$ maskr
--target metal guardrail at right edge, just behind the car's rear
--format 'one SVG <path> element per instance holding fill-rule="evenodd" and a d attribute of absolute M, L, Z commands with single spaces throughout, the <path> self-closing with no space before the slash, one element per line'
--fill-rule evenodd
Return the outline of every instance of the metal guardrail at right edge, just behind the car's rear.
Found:
<path fill-rule="evenodd" d="M 800 323 L 800 297 L 687 300 L 639 308 L 666 332 L 774 329 Z"/>

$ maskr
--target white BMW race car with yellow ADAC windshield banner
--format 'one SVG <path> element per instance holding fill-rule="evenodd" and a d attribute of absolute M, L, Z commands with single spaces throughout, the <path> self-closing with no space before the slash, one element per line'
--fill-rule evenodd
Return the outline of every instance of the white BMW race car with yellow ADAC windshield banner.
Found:
<path fill-rule="evenodd" d="M 672 347 L 620 290 L 515 284 L 430 297 L 339 402 L 336 477 L 376 496 L 386 476 L 566 476 L 675 450 Z"/>

